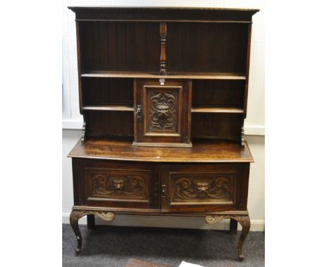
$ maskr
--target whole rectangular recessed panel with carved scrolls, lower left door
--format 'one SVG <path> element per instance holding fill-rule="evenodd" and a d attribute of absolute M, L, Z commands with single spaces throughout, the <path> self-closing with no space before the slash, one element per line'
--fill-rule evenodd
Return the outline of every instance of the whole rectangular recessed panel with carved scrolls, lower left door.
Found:
<path fill-rule="evenodd" d="M 87 169 L 89 198 L 148 200 L 149 172 Z"/>

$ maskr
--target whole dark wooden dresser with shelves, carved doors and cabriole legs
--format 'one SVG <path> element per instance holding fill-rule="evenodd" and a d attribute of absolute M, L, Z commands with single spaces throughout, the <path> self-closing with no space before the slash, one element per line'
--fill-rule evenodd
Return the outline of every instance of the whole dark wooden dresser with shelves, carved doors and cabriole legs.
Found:
<path fill-rule="evenodd" d="M 70 8 L 84 120 L 68 154 L 75 251 L 85 215 L 89 228 L 94 216 L 193 216 L 208 224 L 230 219 L 232 233 L 240 223 L 243 259 L 254 161 L 244 120 L 259 10 Z"/>

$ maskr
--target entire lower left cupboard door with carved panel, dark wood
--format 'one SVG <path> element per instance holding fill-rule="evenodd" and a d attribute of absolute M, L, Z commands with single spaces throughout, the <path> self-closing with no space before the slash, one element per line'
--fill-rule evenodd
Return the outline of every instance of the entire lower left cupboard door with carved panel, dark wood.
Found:
<path fill-rule="evenodd" d="M 159 209 L 159 166 L 73 159 L 74 205 Z"/>

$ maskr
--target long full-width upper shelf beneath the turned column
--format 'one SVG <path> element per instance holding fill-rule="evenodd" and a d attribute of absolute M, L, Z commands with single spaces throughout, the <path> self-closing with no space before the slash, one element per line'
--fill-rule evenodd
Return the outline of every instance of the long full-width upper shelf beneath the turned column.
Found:
<path fill-rule="evenodd" d="M 198 80 L 246 80 L 242 73 L 140 73 L 133 71 L 89 71 L 81 77 L 94 78 L 165 78 L 165 79 L 198 79 Z"/>

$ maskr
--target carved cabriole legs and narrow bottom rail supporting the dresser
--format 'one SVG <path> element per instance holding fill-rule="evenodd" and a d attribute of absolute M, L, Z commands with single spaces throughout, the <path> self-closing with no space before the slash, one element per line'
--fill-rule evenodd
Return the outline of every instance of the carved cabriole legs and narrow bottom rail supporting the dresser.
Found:
<path fill-rule="evenodd" d="M 114 213 L 108 208 L 89 208 L 85 207 L 77 207 L 74 206 L 71 211 L 70 222 L 71 228 L 73 229 L 76 239 L 78 241 L 78 247 L 75 249 L 76 254 L 80 254 L 82 248 L 82 236 L 80 234 L 80 229 L 78 227 L 78 221 L 80 218 L 87 215 L 89 218 L 92 218 L 94 215 L 100 217 L 105 221 L 112 221 L 115 219 Z M 133 214 L 140 215 L 142 212 L 115 212 L 117 214 Z M 215 212 L 210 214 L 198 214 L 198 213 L 148 213 L 147 215 L 169 215 L 176 217 L 205 217 L 205 222 L 208 224 L 215 224 L 217 222 L 221 222 L 223 219 L 231 219 L 235 222 L 238 222 L 242 226 L 242 232 L 240 233 L 240 238 L 238 240 L 238 258 L 242 261 L 244 259 L 243 254 L 243 243 L 245 238 L 247 237 L 247 233 L 249 233 L 250 228 L 250 219 L 249 213 L 247 211 L 226 211 L 226 212 Z M 93 219 L 89 219 L 90 225 L 94 227 Z"/>

